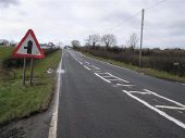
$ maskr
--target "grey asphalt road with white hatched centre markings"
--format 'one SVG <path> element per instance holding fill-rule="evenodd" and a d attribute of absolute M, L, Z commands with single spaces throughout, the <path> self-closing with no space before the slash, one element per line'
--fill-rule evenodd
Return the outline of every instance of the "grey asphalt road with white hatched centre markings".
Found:
<path fill-rule="evenodd" d="M 64 50 L 58 138 L 185 138 L 185 86 Z"/>

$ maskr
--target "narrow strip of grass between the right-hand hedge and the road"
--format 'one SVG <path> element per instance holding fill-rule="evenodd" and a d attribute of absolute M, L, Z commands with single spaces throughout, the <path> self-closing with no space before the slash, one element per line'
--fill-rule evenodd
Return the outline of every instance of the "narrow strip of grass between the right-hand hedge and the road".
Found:
<path fill-rule="evenodd" d="M 178 83 L 185 83 L 185 77 L 180 77 L 180 76 L 176 76 L 176 75 L 172 75 L 172 74 L 166 73 L 166 72 L 160 72 L 160 71 L 157 71 L 157 70 L 152 70 L 152 68 L 139 68 L 138 66 L 134 66 L 134 65 L 131 65 L 131 64 L 125 64 L 125 63 L 114 61 L 114 60 L 110 60 L 110 59 L 95 57 L 95 55 L 91 55 L 89 53 L 84 53 L 84 54 L 87 55 L 87 57 L 100 60 L 100 61 L 111 63 L 113 65 L 118 65 L 118 66 L 121 66 L 121 67 L 126 67 L 126 68 L 133 70 L 133 71 L 136 71 L 136 72 L 139 72 L 139 73 L 144 73 L 144 74 L 147 74 L 147 75 L 150 75 L 150 76 L 155 76 L 155 77 L 158 77 L 158 78 L 178 81 Z"/>

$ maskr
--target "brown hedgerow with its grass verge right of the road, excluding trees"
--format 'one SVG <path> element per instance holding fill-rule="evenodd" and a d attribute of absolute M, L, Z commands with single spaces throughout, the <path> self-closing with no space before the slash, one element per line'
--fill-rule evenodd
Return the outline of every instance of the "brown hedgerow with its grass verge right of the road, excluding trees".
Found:
<path fill-rule="evenodd" d="M 141 68 L 139 50 L 119 47 L 78 47 L 86 55 L 134 70 L 158 78 L 185 83 L 185 50 L 182 49 L 144 49 Z"/>

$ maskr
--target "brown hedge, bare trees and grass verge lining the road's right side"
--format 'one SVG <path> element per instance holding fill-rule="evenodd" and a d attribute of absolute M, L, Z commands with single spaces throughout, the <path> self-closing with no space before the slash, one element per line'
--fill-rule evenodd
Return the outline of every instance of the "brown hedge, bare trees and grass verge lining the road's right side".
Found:
<path fill-rule="evenodd" d="M 145 48 L 141 52 L 139 67 L 139 38 L 135 33 L 131 34 L 126 45 L 116 46 L 116 37 L 113 34 L 89 35 L 85 39 L 85 46 L 81 47 L 78 40 L 72 41 L 73 49 L 84 54 L 109 62 L 114 65 L 134 70 L 158 78 L 185 83 L 185 50 Z"/>

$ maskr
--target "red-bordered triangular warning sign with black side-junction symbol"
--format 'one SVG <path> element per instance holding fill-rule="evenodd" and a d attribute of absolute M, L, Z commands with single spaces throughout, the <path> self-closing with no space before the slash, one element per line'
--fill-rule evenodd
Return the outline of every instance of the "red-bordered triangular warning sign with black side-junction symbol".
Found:
<path fill-rule="evenodd" d="M 26 35 L 20 41 L 18 46 L 13 51 L 14 58 L 45 58 L 44 51 L 41 50 L 37 38 L 32 29 L 28 29 Z"/>

